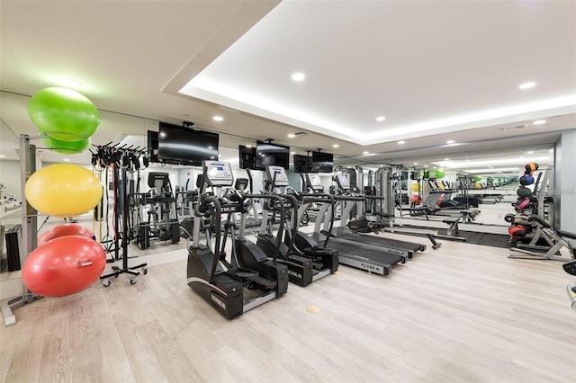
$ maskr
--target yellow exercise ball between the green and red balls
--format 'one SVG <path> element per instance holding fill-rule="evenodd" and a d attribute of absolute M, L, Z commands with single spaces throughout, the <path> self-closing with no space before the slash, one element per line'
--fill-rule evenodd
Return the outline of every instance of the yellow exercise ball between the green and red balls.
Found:
<path fill-rule="evenodd" d="M 31 207 L 60 218 L 76 217 L 94 209 L 102 185 L 88 169 L 72 164 L 49 165 L 30 176 L 24 194 Z"/>

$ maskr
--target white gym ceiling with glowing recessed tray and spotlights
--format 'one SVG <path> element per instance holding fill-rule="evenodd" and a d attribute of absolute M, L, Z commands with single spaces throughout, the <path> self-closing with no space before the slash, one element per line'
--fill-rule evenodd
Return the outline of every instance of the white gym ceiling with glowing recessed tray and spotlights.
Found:
<path fill-rule="evenodd" d="M 36 134 L 28 97 L 58 77 L 101 110 L 100 145 L 191 120 L 227 147 L 274 138 L 343 164 L 423 165 L 546 156 L 576 128 L 571 1 L 0 1 L 0 22 L 6 156 L 10 130 Z"/>

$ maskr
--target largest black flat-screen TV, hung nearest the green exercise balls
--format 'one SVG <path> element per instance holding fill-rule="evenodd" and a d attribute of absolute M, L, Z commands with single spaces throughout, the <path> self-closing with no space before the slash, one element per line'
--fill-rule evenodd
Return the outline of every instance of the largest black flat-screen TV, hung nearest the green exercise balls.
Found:
<path fill-rule="evenodd" d="M 158 160 L 181 165 L 201 165 L 218 159 L 218 134 L 160 122 Z"/>

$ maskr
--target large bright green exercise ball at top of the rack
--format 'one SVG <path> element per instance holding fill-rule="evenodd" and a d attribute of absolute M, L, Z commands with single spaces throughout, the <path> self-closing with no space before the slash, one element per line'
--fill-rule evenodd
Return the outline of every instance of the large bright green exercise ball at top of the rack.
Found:
<path fill-rule="evenodd" d="M 32 95 L 28 116 L 40 133 L 62 141 L 90 138 L 100 125 L 94 103 L 67 88 L 44 88 Z"/>

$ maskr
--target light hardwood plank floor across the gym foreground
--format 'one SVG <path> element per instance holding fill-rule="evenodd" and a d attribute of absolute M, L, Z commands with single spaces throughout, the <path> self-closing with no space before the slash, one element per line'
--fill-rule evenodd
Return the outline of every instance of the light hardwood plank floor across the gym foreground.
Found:
<path fill-rule="evenodd" d="M 389 277 L 340 266 L 231 321 L 186 285 L 180 259 L 134 286 L 121 276 L 16 310 L 0 380 L 576 381 L 572 277 L 507 254 L 445 240 Z"/>

